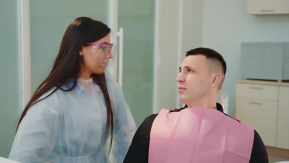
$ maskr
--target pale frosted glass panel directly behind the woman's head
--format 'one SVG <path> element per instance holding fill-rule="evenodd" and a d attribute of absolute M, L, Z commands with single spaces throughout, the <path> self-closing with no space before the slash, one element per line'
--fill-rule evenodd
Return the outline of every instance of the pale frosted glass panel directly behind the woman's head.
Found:
<path fill-rule="evenodd" d="M 80 16 L 108 24 L 108 0 L 30 0 L 32 93 L 48 76 L 64 31 Z"/>

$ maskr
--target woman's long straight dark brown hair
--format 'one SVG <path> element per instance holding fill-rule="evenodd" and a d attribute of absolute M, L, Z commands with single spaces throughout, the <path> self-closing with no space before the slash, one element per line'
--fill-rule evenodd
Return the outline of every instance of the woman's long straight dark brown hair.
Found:
<path fill-rule="evenodd" d="M 40 102 L 56 92 L 58 89 L 63 91 L 71 91 L 77 84 L 77 77 L 80 71 L 79 62 L 82 62 L 82 56 L 79 55 L 79 50 L 83 43 L 95 42 L 107 34 L 110 33 L 110 28 L 107 27 L 102 22 L 93 20 L 87 17 L 79 17 L 72 21 L 72 23 L 67 27 L 61 44 L 58 55 L 54 61 L 51 72 L 48 77 L 39 85 L 33 94 L 32 98 L 26 105 L 18 126 L 26 115 L 27 110 L 37 102 Z M 83 45 L 85 46 L 85 45 Z M 109 94 L 107 91 L 105 74 L 92 74 L 93 80 L 99 85 L 102 93 L 105 97 L 106 111 L 107 111 L 107 125 L 105 131 L 105 141 L 110 133 L 110 149 L 113 140 L 113 129 L 114 129 L 114 113 L 112 110 L 112 105 L 110 102 Z M 73 85 L 68 90 L 61 88 L 70 79 L 74 79 Z M 42 95 L 47 93 L 52 88 L 55 88 L 48 96 L 39 99 Z M 17 132 L 16 130 L 16 132 Z"/>

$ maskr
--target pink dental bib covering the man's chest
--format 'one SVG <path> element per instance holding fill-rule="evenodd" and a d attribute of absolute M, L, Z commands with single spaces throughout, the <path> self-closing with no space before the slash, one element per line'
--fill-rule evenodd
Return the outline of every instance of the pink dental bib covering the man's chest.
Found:
<path fill-rule="evenodd" d="M 162 109 L 155 118 L 148 163 L 249 163 L 253 128 L 217 109 Z"/>

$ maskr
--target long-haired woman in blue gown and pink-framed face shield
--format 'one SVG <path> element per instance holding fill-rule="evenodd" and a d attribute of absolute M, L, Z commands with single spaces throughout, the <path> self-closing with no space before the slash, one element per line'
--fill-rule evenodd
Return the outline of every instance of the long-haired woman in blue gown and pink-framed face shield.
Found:
<path fill-rule="evenodd" d="M 120 85 L 104 73 L 112 47 L 103 23 L 72 21 L 51 72 L 21 115 L 9 159 L 106 163 L 111 150 L 113 162 L 122 163 L 136 126 Z"/>

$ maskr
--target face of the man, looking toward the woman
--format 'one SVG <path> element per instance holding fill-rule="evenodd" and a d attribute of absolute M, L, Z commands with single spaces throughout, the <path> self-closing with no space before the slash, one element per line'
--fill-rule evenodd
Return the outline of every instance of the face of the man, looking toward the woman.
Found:
<path fill-rule="evenodd" d="M 178 84 L 179 100 L 184 104 L 195 103 L 209 94 L 212 72 L 204 55 L 189 55 L 180 65 Z"/>

